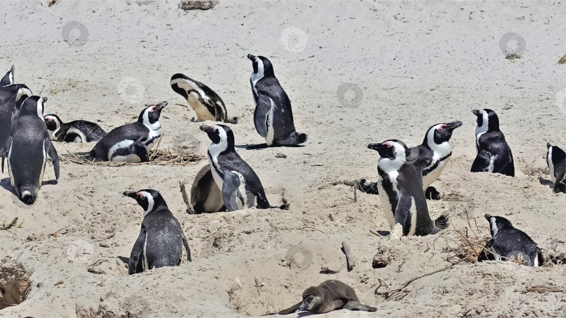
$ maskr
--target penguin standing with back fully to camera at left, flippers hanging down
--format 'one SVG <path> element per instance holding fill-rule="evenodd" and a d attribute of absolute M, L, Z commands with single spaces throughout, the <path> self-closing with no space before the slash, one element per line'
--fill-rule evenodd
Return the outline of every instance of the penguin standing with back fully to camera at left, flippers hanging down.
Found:
<path fill-rule="evenodd" d="M 59 156 L 43 122 L 43 107 L 47 98 L 31 96 L 25 100 L 17 119 L 13 122 L 10 137 L 0 149 L 8 158 L 10 184 L 17 197 L 25 204 L 34 204 L 41 188 L 45 162 L 50 156 L 59 179 Z M 4 158 L 2 158 L 2 172 Z"/>

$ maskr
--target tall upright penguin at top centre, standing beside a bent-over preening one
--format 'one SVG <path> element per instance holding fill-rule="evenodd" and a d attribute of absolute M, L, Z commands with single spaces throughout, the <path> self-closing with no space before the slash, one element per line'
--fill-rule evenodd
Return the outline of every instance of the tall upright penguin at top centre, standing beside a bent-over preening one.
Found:
<path fill-rule="evenodd" d="M 263 56 L 248 54 L 254 72 L 249 78 L 256 102 L 254 124 L 268 146 L 296 146 L 307 141 L 293 123 L 291 100 L 275 77 L 271 62 Z"/>

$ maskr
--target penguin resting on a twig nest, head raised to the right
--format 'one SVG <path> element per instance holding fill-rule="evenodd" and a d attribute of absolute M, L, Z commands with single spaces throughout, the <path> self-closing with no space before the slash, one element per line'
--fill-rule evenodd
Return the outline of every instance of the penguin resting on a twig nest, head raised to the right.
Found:
<path fill-rule="evenodd" d="M 145 107 L 135 123 L 119 126 L 108 134 L 90 151 L 90 160 L 147 162 L 149 152 L 163 133 L 159 124 L 161 110 L 167 102 Z"/>

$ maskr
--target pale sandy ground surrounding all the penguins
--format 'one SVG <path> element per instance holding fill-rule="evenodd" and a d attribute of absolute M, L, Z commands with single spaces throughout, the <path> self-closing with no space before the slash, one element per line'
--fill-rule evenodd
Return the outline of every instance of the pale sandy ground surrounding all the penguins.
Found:
<path fill-rule="evenodd" d="M 208 138 L 168 84 L 184 73 L 219 93 L 229 115 L 240 116 L 231 126 L 238 145 L 259 144 L 250 53 L 273 62 L 296 128 L 309 140 L 302 148 L 238 148 L 271 203 L 280 203 L 284 192 L 289 211 L 185 213 L 178 181 L 190 183 L 205 161 L 186 167 L 63 162 L 59 183 L 45 184 L 31 208 L 14 199 L 3 174 L 0 222 L 17 217 L 23 224 L 0 231 L 0 279 L 14 282 L 15 272 L 25 272 L 31 288 L 26 301 L 0 310 L 0 317 L 258 316 L 289 307 L 304 289 L 328 279 L 351 285 L 378 310 L 321 317 L 566 317 L 563 292 L 525 293 L 536 285 L 566 289 L 563 267 L 462 263 L 416 280 L 398 301 L 375 295 L 378 279 L 399 288 L 449 265 L 449 248 L 460 241 L 454 232 L 397 242 L 373 236 L 370 230 L 389 230 L 379 198 L 358 192 L 354 201 L 353 188 L 341 183 L 377 180 L 378 156 L 368 143 L 396 138 L 413 146 L 434 123 L 460 120 L 453 158 L 434 184 L 451 199 L 428 202 L 431 216 L 448 211 L 453 227 L 464 229 L 467 211 L 470 234 L 488 236 L 483 215 L 491 213 L 509 218 L 541 248 L 565 240 L 566 195 L 551 191 L 544 160 L 547 141 L 566 146 L 566 68 L 556 63 L 566 53 L 563 1 L 221 0 L 212 10 L 187 13 L 176 0 L 47 3 L 0 2 L 0 69 L 15 64 L 16 82 L 49 98 L 46 114 L 99 121 L 110 130 L 134 121 L 146 103 L 168 100 L 161 147 L 189 142 L 204 154 Z M 500 39 L 510 32 L 517 36 L 509 50 L 525 44 L 521 59 L 502 53 Z M 337 96 L 351 86 L 357 88 Z M 469 172 L 471 111 L 483 107 L 499 114 L 515 178 Z M 94 144 L 55 146 L 63 156 Z M 44 180 L 52 179 L 49 165 Z M 142 188 L 165 197 L 194 262 L 126 275 L 117 256 L 129 257 L 143 211 L 121 193 Z M 342 241 L 356 258 L 353 271 L 345 268 Z M 391 248 L 391 263 L 375 269 L 379 247 Z M 565 249 L 561 241 L 558 250 Z M 322 266 L 340 271 L 321 273 Z"/>

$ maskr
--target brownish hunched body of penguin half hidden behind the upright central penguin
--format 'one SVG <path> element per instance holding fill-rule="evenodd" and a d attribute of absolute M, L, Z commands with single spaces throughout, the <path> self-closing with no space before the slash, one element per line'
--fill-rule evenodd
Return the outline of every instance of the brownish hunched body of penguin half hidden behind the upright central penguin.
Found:
<path fill-rule="evenodd" d="M 222 191 L 218 188 L 210 164 L 196 174 L 191 186 L 191 205 L 194 213 L 215 213 L 226 211 Z"/>

